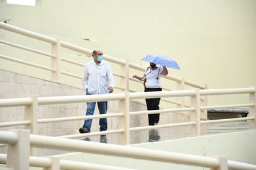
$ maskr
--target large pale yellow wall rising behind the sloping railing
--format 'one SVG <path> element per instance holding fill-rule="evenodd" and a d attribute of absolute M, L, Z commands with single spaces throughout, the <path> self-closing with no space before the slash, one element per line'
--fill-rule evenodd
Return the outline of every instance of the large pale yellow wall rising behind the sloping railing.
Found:
<path fill-rule="evenodd" d="M 170 56 L 181 68 L 169 69 L 170 74 L 208 84 L 209 89 L 256 84 L 254 0 L 64 0 L 39 4 L 0 4 L 0 19 L 12 19 L 9 24 L 89 49 L 101 48 L 107 55 L 138 65 L 139 59 L 150 53 Z M 2 30 L 0 37 L 8 38 Z"/>

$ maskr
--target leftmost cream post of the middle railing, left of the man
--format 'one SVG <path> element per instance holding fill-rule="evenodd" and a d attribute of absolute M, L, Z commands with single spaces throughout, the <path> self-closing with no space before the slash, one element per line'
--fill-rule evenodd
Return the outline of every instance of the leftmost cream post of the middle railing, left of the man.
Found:
<path fill-rule="evenodd" d="M 25 120 L 30 120 L 29 125 L 25 125 L 25 129 L 30 130 L 31 134 L 38 133 L 38 97 L 29 96 L 32 98 L 32 104 L 25 105 Z M 36 155 L 36 148 L 30 148 L 30 154 Z"/>

